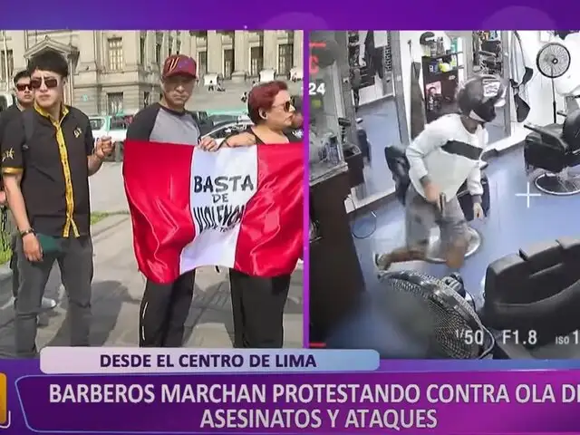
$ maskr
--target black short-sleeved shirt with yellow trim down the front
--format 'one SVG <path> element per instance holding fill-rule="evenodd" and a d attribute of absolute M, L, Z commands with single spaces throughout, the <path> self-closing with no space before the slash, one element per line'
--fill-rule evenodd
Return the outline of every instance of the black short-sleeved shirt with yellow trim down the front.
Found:
<path fill-rule="evenodd" d="M 2 173 L 23 174 L 21 189 L 30 224 L 53 237 L 89 234 L 89 170 L 94 140 L 88 117 L 64 106 L 60 120 L 40 107 L 34 111 L 34 133 L 28 143 L 24 116 L 5 127 Z M 23 112 L 24 113 L 24 112 Z"/>

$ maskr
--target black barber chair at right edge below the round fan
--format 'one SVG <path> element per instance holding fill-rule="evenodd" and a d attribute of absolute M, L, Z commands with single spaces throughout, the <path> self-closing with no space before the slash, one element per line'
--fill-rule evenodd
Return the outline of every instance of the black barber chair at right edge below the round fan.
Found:
<path fill-rule="evenodd" d="M 527 171 L 543 169 L 534 180 L 536 188 L 550 195 L 580 192 L 580 178 L 569 169 L 580 165 L 580 110 L 565 117 L 564 125 L 526 125 L 532 132 L 524 144 Z"/>

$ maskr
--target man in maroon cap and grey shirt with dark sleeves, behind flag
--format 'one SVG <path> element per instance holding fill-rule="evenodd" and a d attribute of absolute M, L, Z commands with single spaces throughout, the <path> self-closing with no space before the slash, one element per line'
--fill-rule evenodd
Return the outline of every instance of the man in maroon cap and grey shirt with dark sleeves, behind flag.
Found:
<path fill-rule="evenodd" d="M 161 101 L 135 115 L 127 139 L 216 148 L 215 140 L 200 140 L 198 124 L 185 108 L 196 79 L 197 65 L 192 58 L 184 54 L 169 56 L 161 73 Z M 150 175 L 143 174 L 143 177 Z M 140 305 L 140 347 L 180 347 L 183 344 L 195 275 L 196 271 L 192 270 L 169 285 L 147 280 Z"/>

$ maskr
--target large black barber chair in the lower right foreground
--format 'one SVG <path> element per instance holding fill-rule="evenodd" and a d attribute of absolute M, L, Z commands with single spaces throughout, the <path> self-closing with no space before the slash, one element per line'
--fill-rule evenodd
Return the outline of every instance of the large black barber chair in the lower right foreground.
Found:
<path fill-rule="evenodd" d="M 479 318 L 498 359 L 580 357 L 580 240 L 520 249 L 488 266 Z"/>

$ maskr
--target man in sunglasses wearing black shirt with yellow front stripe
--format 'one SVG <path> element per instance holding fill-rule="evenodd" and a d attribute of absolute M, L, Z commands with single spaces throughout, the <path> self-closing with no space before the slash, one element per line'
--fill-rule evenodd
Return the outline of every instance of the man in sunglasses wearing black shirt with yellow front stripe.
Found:
<path fill-rule="evenodd" d="M 28 71 L 34 107 L 6 125 L 2 139 L 5 191 L 19 232 L 14 330 L 21 358 L 37 355 L 36 318 L 55 261 L 69 301 L 71 344 L 89 345 L 93 264 L 88 178 L 112 152 L 111 140 L 102 138 L 95 145 L 88 117 L 64 104 L 69 69 L 60 53 L 34 55 Z"/>

